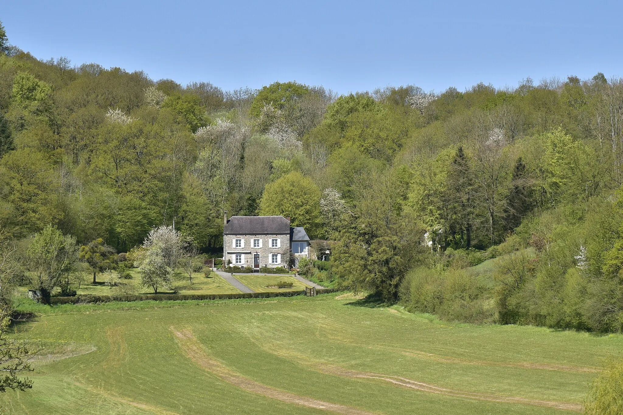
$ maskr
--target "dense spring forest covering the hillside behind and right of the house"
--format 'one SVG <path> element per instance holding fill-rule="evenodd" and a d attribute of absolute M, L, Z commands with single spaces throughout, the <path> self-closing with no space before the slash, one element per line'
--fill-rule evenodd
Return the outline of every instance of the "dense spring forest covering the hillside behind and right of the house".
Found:
<path fill-rule="evenodd" d="M 622 330 L 619 78 L 223 91 L 0 47 L 18 251 L 49 225 L 119 253 L 174 225 L 220 256 L 224 212 L 284 215 L 331 246 L 312 278 L 451 320 Z"/>

